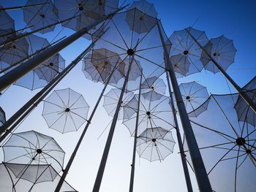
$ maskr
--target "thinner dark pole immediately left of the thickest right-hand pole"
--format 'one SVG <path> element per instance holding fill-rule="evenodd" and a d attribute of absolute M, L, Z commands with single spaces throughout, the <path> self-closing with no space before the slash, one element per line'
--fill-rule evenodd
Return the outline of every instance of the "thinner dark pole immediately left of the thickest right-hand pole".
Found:
<path fill-rule="evenodd" d="M 169 79 L 169 75 L 167 72 L 166 72 L 166 80 L 167 80 L 168 90 L 169 90 L 169 94 L 170 94 L 170 102 L 172 105 L 173 118 L 174 118 L 174 123 L 175 123 L 175 128 L 176 128 L 177 139 L 178 139 L 178 147 L 179 147 L 179 150 L 181 153 L 181 162 L 182 162 L 184 175 L 185 175 L 185 179 L 186 179 L 187 191 L 193 192 L 191 180 L 189 177 L 189 169 L 187 167 L 186 155 L 184 153 L 184 148 L 183 148 L 183 144 L 182 144 L 181 133 L 180 133 L 179 127 L 178 127 L 176 109 L 175 109 L 174 103 L 173 103 L 173 94 L 172 94 L 172 90 L 170 88 L 170 79 Z"/>

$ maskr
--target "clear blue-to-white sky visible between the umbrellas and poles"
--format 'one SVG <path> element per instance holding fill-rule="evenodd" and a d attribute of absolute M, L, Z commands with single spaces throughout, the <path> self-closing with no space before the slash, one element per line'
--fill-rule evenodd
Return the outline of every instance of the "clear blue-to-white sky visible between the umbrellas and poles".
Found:
<path fill-rule="evenodd" d="M 162 20 L 162 25 L 168 37 L 173 31 L 181 30 L 192 25 L 199 30 L 206 31 L 209 38 L 225 34 L 227 38 L 233 39 L 234 45 L 238 50 L 235 63 L 230 66 L 227 73 L 241 86 L 244 86 L 246 82 L 255 76 L 256 1 L 155 0 L 150 2 L 154 3 L 158 12 L 158 18 Z M 3 7 L 11 7 L 23 5 L 25 1 L 0 0 L 0 4 Z M 21 10 L 9 11 L 8 13 L 15 19 L 15 27 L 17 29 L 25 26 L 25 23 L 23 23 L 23 12 Z M 56 30 L 53 32 L 45 34 L 44 36 L 41 34 L 38 35 L 52 40 L 60 30 L 61 26 L 57 26 Z M 71 30 L 64 29 L 59 34 L 59 37 L 69 36 L 72 33 Z M 88 40 L 79 39 L 62 50 L 61 55 L 66 60 L 66 65 L 88 45 Z M 72 88 L 82 93 L 91 107 L 89 110 L 90 114 L 102 90 L 102 84 L 86 80 L 81 68 L 82 63 L 80 62 L 80 64 L 56 86 L 56 89 Z M 202 71 L 199 74 L 193 74 L 189 77 L 178 79 L 179 82 L 189 82 L 192 80 L 205 85 L 210 93 L 229 93 L 227 82 L 222 74 L 212 74 L 211 72 Z M 108 88 L 108 90 L 109 89 L 110 88 Z M 231 89 L 233 91 L 232 87 Z M 34 96 L 37 91 L 39 90 L 29 91 L 15 85 L 9 88 L 4 95 L 0 97 L 0 105 L 6 111 L 7 118 L 10 118 L 11 115 L 23 106 L 31 96 Z M 99 167 L 99 161 L 105 146 L 105 140 L 108 136 L 107 128 L 104 134 L 102 134 L 102 137 L 97 139 L 111 120 L 103 109 L 102 104 L 103 102 L 101 102 L 96 112 L 67 177 L 69 183 L 78 191 L 84 192 L 92 190 Z M 39 104 L 39 106 L 31 112 L 31 115 L 19 126 L 17 131 L 33 129 L 54 137 L 67 153 L 65 161 L 65 163 L 67 163 L 67 159 L 72 149 L 75 147 L 75 141 L 78 140 L 82 128 L 80 128 L 78 132 L 63 135 L 59 134 L 48 128 L 41 114 L 42 104 Z M 175 131 L 173 131 L 173 137 L 176 140 Z M 102 180 L 102 192 L 128 191 L 130 164 L 132 162 L 132 145 L 133 139 L 129 136 L 129 131 L 124 125 L 121 125 L 121 121 L 118 122 Z M 192 173 L 191 177 L 193 187 L 195 191 L 197 191 L 197 184 Z M 168 156 L 162 163 L 150 163 L 144 159 L 137 158 L 134 191 L 186 191 L 177 145 L 174 148 L 173 154 Z"/>

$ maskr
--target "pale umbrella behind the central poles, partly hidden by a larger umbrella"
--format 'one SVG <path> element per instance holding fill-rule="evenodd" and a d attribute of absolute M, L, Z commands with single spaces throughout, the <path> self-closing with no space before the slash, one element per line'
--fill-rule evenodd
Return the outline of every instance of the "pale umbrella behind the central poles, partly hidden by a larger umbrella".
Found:
<path fill-rule="evenodd" d="M 111 117 L 113 117 L 113 115 L 116 112 L 116 106 L 118 104 L 118 99 L 119 99 L 120 93 L 121 93 L 120 89 L 112 88 L 104 96 L 103 107 L 108 112 L 108 115 L 110 115 Z M 124 106 L 132 99 L 133 96 L 134 96 L 134 93 L 132 93 L 132 92 L 124 93 L 123 99 L 121 101 L 121 109 L 118 114 L 118 120 L 127 118 L 127 115 L 125 114 L 126 111 L 124 110 Z"/>

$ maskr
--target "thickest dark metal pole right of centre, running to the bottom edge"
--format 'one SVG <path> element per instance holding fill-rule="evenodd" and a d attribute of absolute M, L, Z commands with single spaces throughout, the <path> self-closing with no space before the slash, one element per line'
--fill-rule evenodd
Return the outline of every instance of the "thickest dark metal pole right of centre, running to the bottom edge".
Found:
<path fill-rule="evenodd" d="M 173 65 L 170 63 L 169 54 L 167 52 L 167 48 L 165 47 L 165 41 L 164 41 L 164 38 L 162 37 L 162 32 L 161 32 L 159 23 L 157 23 L 157 26 L 159 29 L 159 36 L 162 41 L 162 46 L 165 52 L 165 64 L 170 74 L 171 83 L 173 85 L 173 92 L 176 97 L 176 103 L 177 103 L 178 112 L 181 118 L 181 123 L 184 128 L 184 134 L 187 139 L 189 154 L 191 156 L 193 168 L 195 171 L 195 177 L 197 179 L 198 188 L 201 192 L 212 192 L 211 183 L 208 179 L 208 174 L 206 172 L 206 167 L 203 164 L 203 158 L 200 154 L 200 150 L 197 145 L 197 141 L 195 139 L 195 134 L 193 132 L 192 126 L 189 121 L 189 116 L 187 115 L 187 110 L 181 96 L 181 91 L 178 88 L 176 75 L 173 70 Z"/>

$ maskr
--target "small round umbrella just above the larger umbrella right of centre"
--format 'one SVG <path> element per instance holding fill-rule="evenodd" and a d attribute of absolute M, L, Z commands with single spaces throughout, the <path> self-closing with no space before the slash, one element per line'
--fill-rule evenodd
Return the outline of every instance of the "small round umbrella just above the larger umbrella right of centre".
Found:
<path fill-rule="evenodd" d="M 165 95 L 165 82 L 159 77 L 148 77 L 141 85 L 141 93 L 144 99 L 155 101 Z"/>

